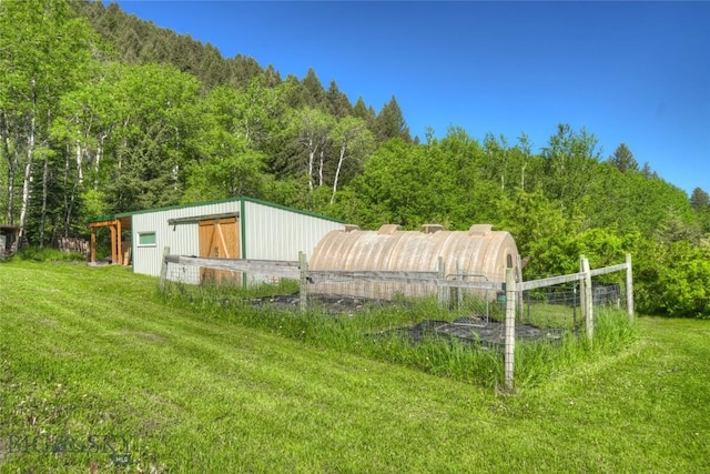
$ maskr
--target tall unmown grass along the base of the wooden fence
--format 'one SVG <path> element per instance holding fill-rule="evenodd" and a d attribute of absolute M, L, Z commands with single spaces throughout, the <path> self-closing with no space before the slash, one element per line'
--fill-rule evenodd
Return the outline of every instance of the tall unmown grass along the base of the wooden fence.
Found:
<path fill-rule="evenodd" d="M 480 302 L 469 301 L 454 311 L 442 307 L 436 299 L 424 299 L 414 303 L 371 304 L 349 313 L 328 312 L 317 304 L 298 312 L 296 305 L 283 307 L 267 302 L 267 296 L 293 294 L 296 289 L 295 282 L 287 281 L 246 289 L 168 282 L 161 296 L 169 305 L 196 311 L 204 317 L 264 330 L 316 347 L 348 352 L 483 386 L 504 384 L 501 347 L 491 349 L 480 342 L 468 344 L 439 335 L 425 335 L 424 341 L 415 343 L 402 332 L 393 331 L 426 320 L 454 321 L 471 314 L 471 309 Z M 254 304 L 254 299 L 260 296 L 260 304 Z M 498 314 L 499 319 L 504 316 L 500 311 L 491 313 Z M 562 316 L 557 320 L 562 321 Z M 555 346 L 549 342 L 518 343 L 520 363 L 517 373 L 521 385 L 538 383 L 560 367 L 574 366 L 598 354 L 618 352 L 635 340 L 636 332 L 628 315 L 621 311 L 602 310 L 597 325 L 594 344 L 575 335 L 567 322 L 558 324 L 567 331 Z"/>

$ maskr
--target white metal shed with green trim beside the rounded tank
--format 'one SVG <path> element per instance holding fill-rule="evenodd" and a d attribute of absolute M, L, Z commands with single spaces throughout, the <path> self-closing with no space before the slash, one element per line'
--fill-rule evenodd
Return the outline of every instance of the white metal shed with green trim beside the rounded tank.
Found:
<path fill-rule="evenodd" d="M 165 246 L 178 255 L 296 261 L 328 232 L 345 229 L 331 218 L 245 196 L 103 216 L 90 225 L 113 222 L 123 223 L 119 235 L 130 229 L 133 271 L 153 276 Z M 123 252 L 113 253 L 121 261 Z"/>

